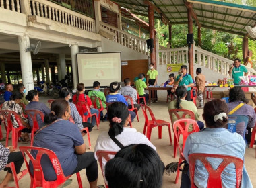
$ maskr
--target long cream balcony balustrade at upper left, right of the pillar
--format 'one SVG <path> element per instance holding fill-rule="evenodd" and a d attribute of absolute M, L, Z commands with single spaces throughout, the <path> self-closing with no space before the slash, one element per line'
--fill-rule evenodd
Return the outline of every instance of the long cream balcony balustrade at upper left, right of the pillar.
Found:
<path fill-rule="evenodd" d="M 30 15 L 45 17 L 88 32 L 95 32 L 95 21 L 90 17 L 76 13 L 50 1 L 28 1 L 30 1 Z"/>

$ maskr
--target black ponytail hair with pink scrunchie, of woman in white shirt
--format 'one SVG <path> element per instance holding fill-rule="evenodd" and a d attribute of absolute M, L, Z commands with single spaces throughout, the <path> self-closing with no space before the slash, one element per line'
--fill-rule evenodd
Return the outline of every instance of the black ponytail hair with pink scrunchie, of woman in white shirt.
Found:
<path fill-rule="evenodd" d="M 108 134 L 117 136 L 123 132 L 125 121 L 129 117 L 129 111 L 125 103 L 115 102 L 108 106 L 108 121 L 110 128 Z"/>

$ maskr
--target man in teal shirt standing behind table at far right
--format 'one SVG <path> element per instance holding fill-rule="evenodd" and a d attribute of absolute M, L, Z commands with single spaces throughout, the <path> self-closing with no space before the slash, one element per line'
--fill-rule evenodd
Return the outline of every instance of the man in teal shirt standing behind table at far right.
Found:
<path fill-rule="evenodd" d="M 234 79 L 235 85 L 238 85 L 240 83 L 239 77 L 243 76 L 244 73 L 245 73 L 245 76 L 248 75 L 247 69 L 245 68 L 245 66 L 241 66 L 240 63 L 241 63 L 241 60 L 236 58 L 234 60 L 234 64 L 228 71 L 228 74 L 230 75 L 230 77 L 232 77 Z"/>

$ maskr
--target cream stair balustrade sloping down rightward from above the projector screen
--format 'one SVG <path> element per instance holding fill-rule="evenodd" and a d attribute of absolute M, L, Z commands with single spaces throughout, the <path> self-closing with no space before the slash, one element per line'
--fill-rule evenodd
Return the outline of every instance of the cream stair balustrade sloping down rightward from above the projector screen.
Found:
<path fill-rule="evenodd" d="M 142 54 L 148 55 L 147 42 L 145 39 L 129 34 L 123 30 L 119 30 L 118 28 L 110 26 L 102 21 L 100 21 L 100 27 L 113 33 L 113 38 L 109 38 L 110 40 Z"/>

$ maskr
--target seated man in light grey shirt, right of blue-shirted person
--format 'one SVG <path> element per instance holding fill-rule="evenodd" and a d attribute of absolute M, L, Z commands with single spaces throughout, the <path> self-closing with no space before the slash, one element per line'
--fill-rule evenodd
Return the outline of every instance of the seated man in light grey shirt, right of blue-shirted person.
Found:
<path fill-rule="evenodd" d="M 123 95 L 123 96 L 129 96 L 133 99 L 133 106 L 137 108 L 137 110 L 139 110 L 140 105 L 137 104 L 137 91 L 136 89 L 134 89 L 133 87 L 131 87 L 131 81 L 129 78 L 126 78 L 123 80 L 123 82 L 125 83 L 125 87 L 121 87 L 121 89 L 119 90 L 119 94 Z M 131 109 L 131 101 L 127 101 L 128 103 L 128 109 Z"/>

